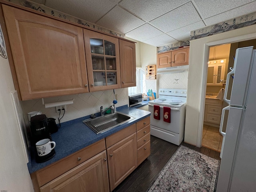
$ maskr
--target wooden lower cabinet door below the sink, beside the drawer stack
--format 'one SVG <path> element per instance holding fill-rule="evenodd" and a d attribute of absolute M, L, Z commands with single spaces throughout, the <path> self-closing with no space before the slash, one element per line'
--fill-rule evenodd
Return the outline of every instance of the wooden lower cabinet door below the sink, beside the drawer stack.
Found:
<path fill-rule="evenodd" d="M 137 168 L 136 132 L 107 149 L 110 191 Z"/>

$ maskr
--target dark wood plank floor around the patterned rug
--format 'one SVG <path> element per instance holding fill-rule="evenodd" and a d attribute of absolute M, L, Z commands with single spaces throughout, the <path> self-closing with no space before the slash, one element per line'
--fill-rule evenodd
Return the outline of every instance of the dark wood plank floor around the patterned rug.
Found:
<path fill-rule="evenodd" d="M 179 147 L 155 136 L 150 136 L 150 139 L 150 156 L 144 160 L 144 162 L 142 162 L 142 164 L 140 164 L 132 174 L 120 183 L 113 192 L 146 192 L 150 184 L 158 176 L 159 172 Z M 181 144 L 202 154 L 220 160 L 220 152 L 206 147 L 198 148 L 184 142 Z"/>

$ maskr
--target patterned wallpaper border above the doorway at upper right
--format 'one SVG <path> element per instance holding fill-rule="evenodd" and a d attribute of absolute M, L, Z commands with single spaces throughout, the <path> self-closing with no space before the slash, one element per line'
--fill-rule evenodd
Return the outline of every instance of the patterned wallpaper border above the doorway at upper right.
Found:
<path fill-rule="evenodd" d="M 190 32 L 190 40 L 207 37 L 210 35 L 231 31 L 234 29 L 256 24 L 256 12 L 230 19 L 212 26 L 204 27 Z"/>

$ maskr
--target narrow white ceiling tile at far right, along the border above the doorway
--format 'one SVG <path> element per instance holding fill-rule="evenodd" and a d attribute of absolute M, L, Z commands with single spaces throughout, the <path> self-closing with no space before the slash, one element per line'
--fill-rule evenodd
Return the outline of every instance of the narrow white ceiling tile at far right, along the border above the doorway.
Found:
<path fill-rule="evenodd" d="M 246 4 L 244 6 L 240 6 L 238 8 L 229 10 L 227 12 L 218 14 L 216 16 L 212 16 L 210 18 L 207 18 L 205 21 L 208 26 L 213 25 L 216 23 L 220 23 L 223 21 L 227 21 L 242 15 L 245 15 L 250 12 L 255 12 L 255 8 L 256 8 L 256 1 Z"/>

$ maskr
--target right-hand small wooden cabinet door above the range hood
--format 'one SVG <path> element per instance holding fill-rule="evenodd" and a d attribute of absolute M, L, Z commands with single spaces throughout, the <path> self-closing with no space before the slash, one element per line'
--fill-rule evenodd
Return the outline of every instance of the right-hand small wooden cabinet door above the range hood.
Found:
<path fill-rule="evenodd" d="M 188 65 L 189 48 L 176 49 L 172 51 L 172 67 Z"/>

